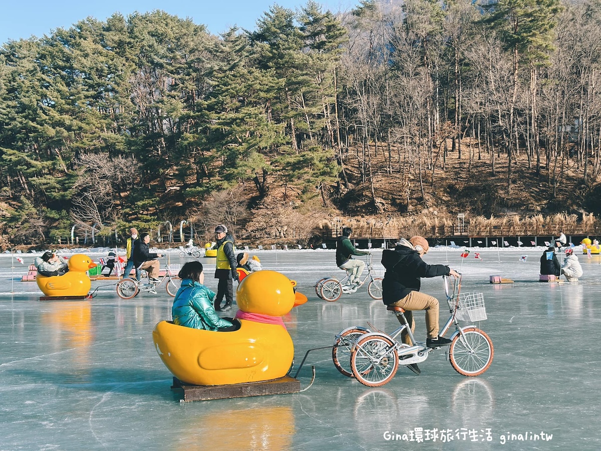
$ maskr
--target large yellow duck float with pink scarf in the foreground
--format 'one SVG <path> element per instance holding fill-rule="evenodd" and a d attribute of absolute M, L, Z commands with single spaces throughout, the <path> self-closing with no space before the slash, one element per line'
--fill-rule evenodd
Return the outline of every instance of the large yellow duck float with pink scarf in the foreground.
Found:
<path fill-rule="evenodd" d="M 282 378 L 291 367 L 294 345 L 281 316 L 306 299 L 294 293 L 294 284 L 276 271 L 246 276 L 236 292 L 240 308 L 236 331 L 213 332 L 160 321 L 153 330 L 160 359 L 180 381 L 194 385 Z"/>

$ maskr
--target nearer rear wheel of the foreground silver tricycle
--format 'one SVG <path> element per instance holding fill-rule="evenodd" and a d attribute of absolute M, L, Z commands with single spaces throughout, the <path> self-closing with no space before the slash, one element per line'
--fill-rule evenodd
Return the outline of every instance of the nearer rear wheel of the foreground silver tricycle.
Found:
<path fill-rule="evenodd" d="M 367 387 L 387 384 L 398 369 L 398 354 L 392 340 L 385 335 L 359 339 L 350 355 L 353 376 Z"/>

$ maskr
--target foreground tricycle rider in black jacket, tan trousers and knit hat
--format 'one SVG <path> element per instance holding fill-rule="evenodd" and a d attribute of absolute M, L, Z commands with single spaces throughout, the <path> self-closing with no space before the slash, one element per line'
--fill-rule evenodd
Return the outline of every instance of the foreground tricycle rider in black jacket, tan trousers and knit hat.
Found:
<path fill-rule="evenodd" d="M 428 250 L 429 244 L 423 236 L 413 236 L 409 241 L 401 239 L 394 250 L 382 251 L 382 264 L 386 268 L 382 281 L 382 301 L 386 305 L 396 305 L 405 310 L 405 318 L 412 332 L 415 330 L 412 310 L 426 310 L 426 346 L 438 348 L 450 345 L 451 340 L 438 336 L 438 299 L 419 292 L 420 279 L 438 275 L 459 277 L 459 274 L 448 266 L 428 265 L 424 262 L 421 256 Z M 401 318 L 397 318 L 401 322 Z M 401 339 L 408 345 L 412 344 L 407 333 L 403 333 Z M 418 372 L 419 369 L 413 365 Z"/>

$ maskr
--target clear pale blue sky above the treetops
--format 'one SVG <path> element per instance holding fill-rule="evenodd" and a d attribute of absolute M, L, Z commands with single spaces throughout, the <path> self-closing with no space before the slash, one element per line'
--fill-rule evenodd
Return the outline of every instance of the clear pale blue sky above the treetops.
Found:
<path fill-rule="evenodd" d="M 350 10 L 359 0 L 317 2 L 335 13 Z M 7 0 L 0 2 L 0 45 L 9 39 L 18 40 L 31 35 L 41 37 L 55 28 L 69 28 L 88 16 L 105 20 L 116 12 L 127 16 L 134 11 L 163 10 L 174 16 L 190 17 L 194 23 L 206 25 L 214 34 L 227 31 L 232 25 L 254 29 L 257 19 L 276 3 L 295 9 L 305 5 L 307 0 Z"/>

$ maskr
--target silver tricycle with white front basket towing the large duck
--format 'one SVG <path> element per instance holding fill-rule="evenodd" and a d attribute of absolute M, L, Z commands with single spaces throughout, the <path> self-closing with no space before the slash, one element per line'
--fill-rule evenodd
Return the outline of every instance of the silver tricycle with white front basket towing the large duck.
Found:
<path fill-rule="evenodd" d="M 482 293 L 459 293 L 461 276 L 454 281 L 453 292 L 449 293 L 448 277 L 443 277 L 450 317 L 441 330 L 441 336 L 455 325 L 451 335 L 451 344 L 447 348 L 448 360 L 456 372 L 463 376 L 478 376 L 489 369 L 495 354 L 492 340 L 484 331 L 468 325 L 460 327 L 458 321 L 483 321 L 487 318 Z M 455 292 L 457 290 L 457 296 Z M 431 351 L 439 348 L 428 348 L 417 342 L 411 328 L 407 324 L 403 308 L 388 305 L 403 320 L 401 326 L 391 335 L 370 328 L 352 327 L 337 334 L 332 349 L 332 360 L 343 375 L 355 377 L 368 387 L 380 387 L 394 377 L 398 365 L 420 363 L 426 360 Z M 407 331 L 412 345 L 396 340 L 404 330 Z M 349 363 L 345 357 L 349 358 Z M 410 368 L 410 367 L 409 367 Z"/>

